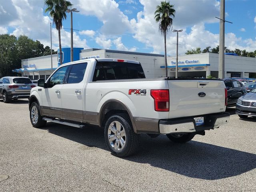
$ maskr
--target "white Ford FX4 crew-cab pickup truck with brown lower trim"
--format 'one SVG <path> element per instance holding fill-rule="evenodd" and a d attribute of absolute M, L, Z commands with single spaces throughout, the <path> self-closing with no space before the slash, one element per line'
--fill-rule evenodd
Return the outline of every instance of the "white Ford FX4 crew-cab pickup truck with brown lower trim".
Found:
<path fill-rule="evenodd" d="M 204 135 L 228 123 L 226 104 L 222 80 L 145 78 L 139 62 L 110 58 L 63 64 L 38 80 L 29 99 L 32 126 L 100 126 L 120 157 L 136 151 L 140 133 L 180 143 Z"/>

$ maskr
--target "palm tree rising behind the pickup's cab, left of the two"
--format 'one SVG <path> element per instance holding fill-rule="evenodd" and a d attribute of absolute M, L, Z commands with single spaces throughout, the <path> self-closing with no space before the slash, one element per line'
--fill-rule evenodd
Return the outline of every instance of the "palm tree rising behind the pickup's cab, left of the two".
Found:
<path fill-rule="evenodd" d="M 59 46 L 60 46 L 60 64 L 62 65 L 62 49 L 60 40 L 60 30 L 62 29 L 62 20 L 67 18 L 66 11 L 71 8 L 72 4 L 67 0 L 45 0 L 44 4 L 47 6 L 45 12 L 49 12 L 53 18 L 53 22 L 58 30 Z"/>

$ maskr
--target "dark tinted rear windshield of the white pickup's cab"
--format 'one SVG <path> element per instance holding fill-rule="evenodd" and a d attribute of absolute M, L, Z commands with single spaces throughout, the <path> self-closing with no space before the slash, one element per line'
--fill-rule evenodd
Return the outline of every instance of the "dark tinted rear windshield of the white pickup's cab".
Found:
<path fill-rule="evenodd" d="M 97 62 L 93 81 L 146 78 L 142 66 L 128 62 Z"/>

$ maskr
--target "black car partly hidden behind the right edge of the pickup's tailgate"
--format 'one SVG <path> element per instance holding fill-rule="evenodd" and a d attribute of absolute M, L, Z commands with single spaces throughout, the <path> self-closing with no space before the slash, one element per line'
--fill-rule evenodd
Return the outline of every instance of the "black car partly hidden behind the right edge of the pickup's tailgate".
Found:
<path fill-rule="evenodd" d="M 228 90 L 228 105 L 227 107 L 233 107 L 236 106 L 236 102 L 239 97 L 243 96 L 247 93 L 246 88 L 242 84 L 242 82 L 232 79 L 232 78 L 226 78 L 223 80 L 226 89 Z"/>

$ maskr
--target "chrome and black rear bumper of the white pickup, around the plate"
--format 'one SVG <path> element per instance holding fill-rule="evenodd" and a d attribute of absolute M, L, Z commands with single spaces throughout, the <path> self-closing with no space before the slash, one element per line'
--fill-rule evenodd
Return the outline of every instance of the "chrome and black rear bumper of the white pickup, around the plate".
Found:
<path fill-rule="evenodd" d="M 204 125 L 196 126 L 195 117 L 174 118 L 159 121 L 160 134 L 190 133 L 218 128 L 227 124 L 229 113 L 207 114 L 204 117 Z"/>

